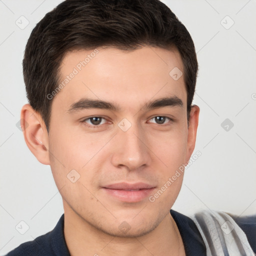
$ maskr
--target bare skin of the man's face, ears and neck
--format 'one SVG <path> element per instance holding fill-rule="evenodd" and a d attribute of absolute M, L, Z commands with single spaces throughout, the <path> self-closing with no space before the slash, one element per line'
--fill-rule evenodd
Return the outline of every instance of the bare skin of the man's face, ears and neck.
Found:
<path fill-rule="evenodd" d="M 49 133 L 29 104 L 21 110 L 21 118 L 28 123 L 23 130 L 26 144 L 38 161 L 50 165 L 62 196 L 70 254 L 185 255 L 169 213 L 183 173 L 154 202 L 148 196 L 138 202 L 123 202 L 102 189 L 115 182 L 141 181 L 155 187 L 153 195 L 189 160 L 199 107 L 191 108 L 188 126 L 183 75 L 178 80 L 169 75 L 174 67 L 183 72 L 181 57 L 175 49 L 149 46 L 98 51 L 51 99 Z M 60 80 L 90 52 L 67 52 Z M 170 96 L 181 99 L 183 106 L 144 107 L 149 101 Z M 94 107 L 68 112 L 74 102 L 85 97 L 114 103 L 119 110 Z M 91 116 L 105 119 L 93 125 L 88 119 Z M 171 119 L 159 124 L 156 116 Z M 131 125 L 126 131 L 118 126 L 123 118 Z M 74 183 L 67 178 L 72 169 L 80 175 Z M 129 226 L 125 232 L 119 228 L 124 221 Z"/>

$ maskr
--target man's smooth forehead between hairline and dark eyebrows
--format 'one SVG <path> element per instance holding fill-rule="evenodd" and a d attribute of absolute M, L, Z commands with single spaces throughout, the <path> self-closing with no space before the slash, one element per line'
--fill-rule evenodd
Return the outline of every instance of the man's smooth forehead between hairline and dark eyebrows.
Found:
<path fill-rule="evenodd" d="M 177 96 L 185 105 L 182 73 L 182 60 L 175 49 L 145 46 L 132 51 L 114 47 L 70 51 L 60 65 L 62 86 L 53 104 L 67 108 L 81 97 L 90 97 L 135 107 L 149 99 Z M 181 76 L 176 79 L 173 74 Z"/>

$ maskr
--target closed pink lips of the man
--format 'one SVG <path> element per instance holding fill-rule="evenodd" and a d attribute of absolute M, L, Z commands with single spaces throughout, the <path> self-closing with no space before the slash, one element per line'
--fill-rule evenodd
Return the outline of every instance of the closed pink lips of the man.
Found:
<path fill-rule="evenodd" d="M 154 185 L 144 182 L 114 183 L 102 187 L 103 191 L 123 202 L 139 202 L 148 197 L 155 189 Z"/>

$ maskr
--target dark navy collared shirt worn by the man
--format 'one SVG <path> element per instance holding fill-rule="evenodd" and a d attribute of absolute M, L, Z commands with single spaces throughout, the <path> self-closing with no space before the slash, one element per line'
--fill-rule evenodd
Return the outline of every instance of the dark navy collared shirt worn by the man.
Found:
<path fill-rule="evenodd" d="M 206 248 L 203 239 L 192 219 L 172 209 L 170 214 L 179 229 L 186 256 L 205 256 Z M 256 253 L 256 216 L 232 217 L 245 232 L 251 248 Z M 70 256 L 63 227 L 64 214 L 61 215 L 53 230 L 32 241 L 20 244 L 7 253 L 7 256 Z"/>

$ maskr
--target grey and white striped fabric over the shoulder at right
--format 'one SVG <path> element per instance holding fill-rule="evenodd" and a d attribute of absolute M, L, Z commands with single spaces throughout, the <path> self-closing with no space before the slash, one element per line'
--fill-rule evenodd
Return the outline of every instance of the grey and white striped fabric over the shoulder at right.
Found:
<path fill-rule="evenodd" d="M 189 217 L 201 233 L 206 256 L 255 255 L 245 233 L 227 213 L 205 209 Z"/>

